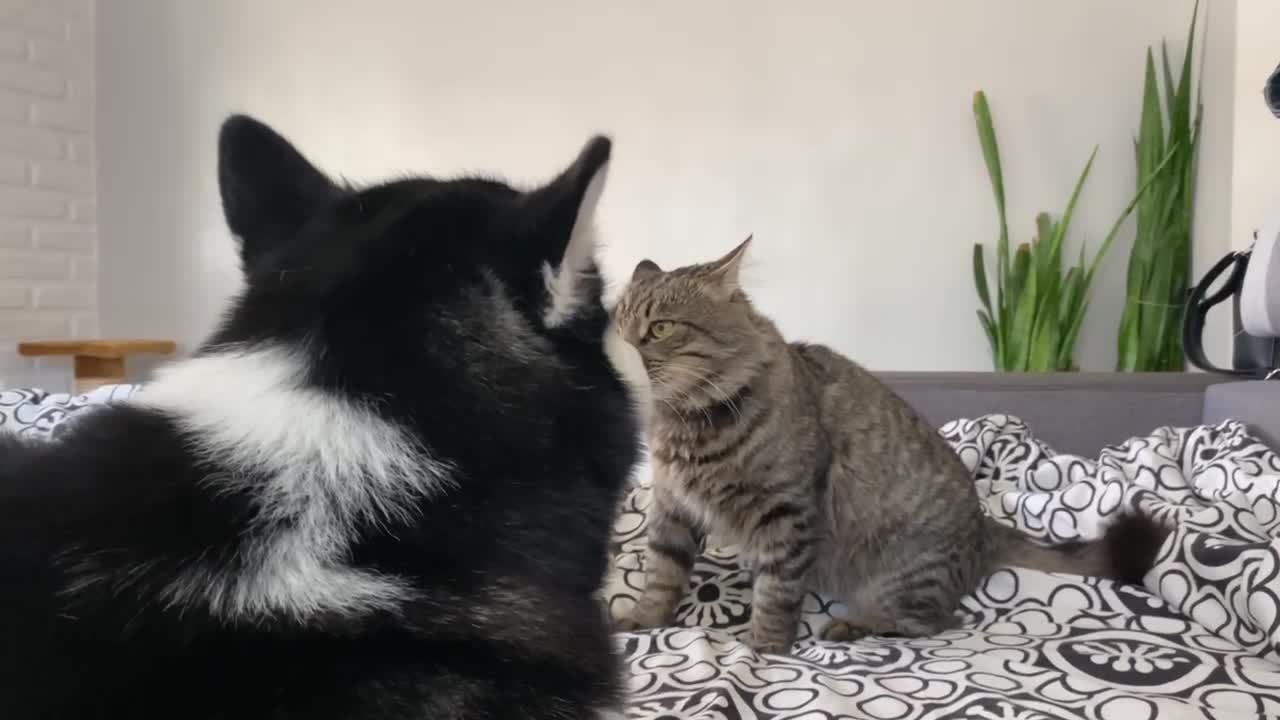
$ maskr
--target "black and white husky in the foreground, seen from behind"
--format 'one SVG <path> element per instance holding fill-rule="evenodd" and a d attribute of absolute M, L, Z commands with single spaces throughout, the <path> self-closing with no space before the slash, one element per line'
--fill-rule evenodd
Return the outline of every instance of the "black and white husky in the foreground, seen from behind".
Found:
<path fill-rule="evenodd" d="M 608 158 L 352 188 L 228 119 L 220 328 L 0 443 L 0 717 L 612 714 L 593 593 L 637 419 L 593 258 Z"/>

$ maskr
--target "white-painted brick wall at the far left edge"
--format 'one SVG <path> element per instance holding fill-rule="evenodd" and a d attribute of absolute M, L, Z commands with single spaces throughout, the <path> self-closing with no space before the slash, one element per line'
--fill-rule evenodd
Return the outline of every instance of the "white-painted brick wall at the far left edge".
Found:
<path fill-rule="evenodd" d="M 97 333 L 95 0 L 0 0 L 0 388 L 69 386 L 20 340 Z"/>

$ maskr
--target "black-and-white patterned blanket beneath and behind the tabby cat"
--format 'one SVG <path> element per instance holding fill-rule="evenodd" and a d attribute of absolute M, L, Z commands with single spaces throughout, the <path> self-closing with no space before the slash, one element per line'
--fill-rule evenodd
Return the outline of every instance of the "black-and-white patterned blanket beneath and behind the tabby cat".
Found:
<path fill-rule="evenodd" d="M 1052 541 L 1093 539 L 1137 507 L 1175 528 L 1147 589 L 993 573 L 965 624 L 932 638 L 815 641 L 838 602 L 810 594 L 791 656 L 740 638 L 750 580 L 732 548 L 695 566 L 677 626 L 620 637 L 628 717 L 796 720 L 1280 717 L 1280 457 L 1238 423 L 1161 428 L 1088 460 L 1016 418 L 942 428 L 991 514 Z M 618 519 L 611 611 L 644 585 L 649 488 Z"/>

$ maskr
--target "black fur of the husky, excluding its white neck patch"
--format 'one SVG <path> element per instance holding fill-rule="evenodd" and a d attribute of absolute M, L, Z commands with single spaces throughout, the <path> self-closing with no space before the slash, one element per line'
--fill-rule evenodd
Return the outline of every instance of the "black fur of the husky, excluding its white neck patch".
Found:
<path fill-rule="evenodd" d="M 589 717 L 618 692 L 591 593 L 637 455 L 599 281 L 557 328 L 556 266 L 607 140 L 540 190 L 332 183 L 265 126 L 219 141 L 247 278 L 201 354 L 285 343 L 457 469 L 349 564 L 412 582 L 396 612 L 228 623 L 166 607 L 193 562 L 234 571 L 256 510 L 178 419 L 115 406 L 52 445 L 0 441 L 0 717 Z M 509 345 L 520 341 L 521 352 Z M 360 482 L 360 478 L 351 478 Z M 108 578 L 67 593 L 72 568 Z M 77 565 L 79 564 L 79 565 Z M 140 564 L 142 569 L 140 568 Z"/>

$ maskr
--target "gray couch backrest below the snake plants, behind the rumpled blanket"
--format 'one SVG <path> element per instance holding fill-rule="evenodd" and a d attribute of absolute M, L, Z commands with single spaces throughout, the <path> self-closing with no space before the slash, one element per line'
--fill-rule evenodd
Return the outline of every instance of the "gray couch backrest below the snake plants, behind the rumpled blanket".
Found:
<path fill-rule="evenodd" d="M 932 423 L 1016 415 L 1059 452 L 1103 446 L 1164 427 L 1245 423 L 1280 450 L 1280 380 L 1204 373 L 878 373 Z"/>

